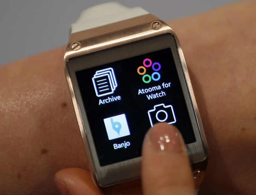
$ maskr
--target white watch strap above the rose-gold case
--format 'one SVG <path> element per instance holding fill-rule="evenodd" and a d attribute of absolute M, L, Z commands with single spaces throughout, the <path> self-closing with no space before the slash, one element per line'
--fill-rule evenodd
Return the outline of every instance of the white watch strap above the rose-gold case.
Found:
<path fill-rule="evenodd" d="M 71 33 L 119 22 L 148 14 L 141 7 L 125 7 L 118 2 L 109 2 L 85 9 L 78 20 L 71 24 Z"/>

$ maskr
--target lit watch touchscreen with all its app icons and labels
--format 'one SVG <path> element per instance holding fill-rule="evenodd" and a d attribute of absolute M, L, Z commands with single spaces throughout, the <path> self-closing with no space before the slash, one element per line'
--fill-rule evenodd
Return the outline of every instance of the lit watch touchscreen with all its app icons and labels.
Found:
<path fill-rule="evenodd" d="M 141 156 L 158 122 L 195 142 L 171 48 L 79 70 L 76 78 L 100 166 Z"/>

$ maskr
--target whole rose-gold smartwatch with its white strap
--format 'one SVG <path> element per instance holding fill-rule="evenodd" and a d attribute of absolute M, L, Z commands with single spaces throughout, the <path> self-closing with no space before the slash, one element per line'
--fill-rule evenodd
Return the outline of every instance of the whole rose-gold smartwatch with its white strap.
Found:
<path fill-rule="evenodd" d="M 71 25 L 64 72 L 98 188 L 123 194 L 139 185 L 143 139 L 158 122 L 179 129 L 200 183 L 208 145 L 180 43 L 165 22 L 117 2 L 86 9 Z"/>

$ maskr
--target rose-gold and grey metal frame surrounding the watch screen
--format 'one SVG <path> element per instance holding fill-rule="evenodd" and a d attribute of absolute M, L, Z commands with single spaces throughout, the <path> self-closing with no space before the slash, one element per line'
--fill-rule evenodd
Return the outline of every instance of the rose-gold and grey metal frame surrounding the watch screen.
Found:
<path fill-rule="evenodd" d="M 160 29 L 152 29 L 151 23 L 154 21 L 161 22 Z M 173 36 L 174 39 L 168 39 L 168 36 Z M 120 50 L 120 52 L 122 52 L 122 50 L 127 51 L 129 44 L 140 44 L 141 42 L 144 42 L 144 40 L 147 42 L 146 40 L 148 38 L 154 40 L 157 39 L 156 42 L 162 42 L 163 44 L 153 44 L 154 42 L 152 42 L 152 44 L 148 46 L 149 49 L 145 49 L 143 52 L 152 52 L 154 50 L 160 50 L 161 48 L 171 47 L 171 50 L 174 53 L 174 61 L 197 140 L 195 143 L 187 144 L 189 159 L 193 169 L 199 169 L 202 176 L 204 175 L 204 170 L 207 166 L 208 146 L 180 43 L 174 31 L 165 22 L 151 14 L 147 14 L 140 17 L 131 18 L 129 20 L 109 24 L 107 26 L 101 26 L 98 28 L 73 33 L 66 48 L 64 56 L 64 70 L 67 85 L 69 87 L 76 118 L 78 120 L 83 143 L 85 145 L 89 164 L 91 166 L 91 173 L 95 181 L 97 181 L 97 184 L 101 187 L 106 187 L 140 177 L 141 157 L 126 160 L 124 162 L 118 162 L 108 166 L 100 166 L 78 88 L 78 83 L 76 81 L 75 72 L 77 70 L 92 66 L 106 64 L 112 60 L 117 61 L 120 59 L 120 57 L 102 60 L 99 59 L 99 56 L 104 55 L 105 52 L 115 53 L 113 50 L 116 52 L 118 50 Z M 70 47 L 73 42 L 78 42 L 80 44 L 80 49 L 73 50 Z M 115 49 L 117 47 L 118 50 Z M 105 50 L 108 48 L 111 48 L 111 50 Z M 121 58 L 124 59 L 132 57 L 135 55 L 136 51 L 126 53 L 126 55 L 121 55 Z M 88 60 L 92 63 L 76 64 L 72 66 L 67 65 L 70 58 L 85 54 L 89 56 Z M 141 53 L 136 53 L 136 55 L 140 54 Z"/>

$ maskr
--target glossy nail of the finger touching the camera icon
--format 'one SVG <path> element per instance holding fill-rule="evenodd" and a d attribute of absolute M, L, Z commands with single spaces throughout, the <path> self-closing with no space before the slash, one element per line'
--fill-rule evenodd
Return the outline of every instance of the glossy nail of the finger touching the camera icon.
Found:
<path fill-rule="evenodd" d="M 177 153 L 182 151 L 178 131 L 173 125 L 156 124 L 149 132 L 149 139 L 158 151 Z"/>

